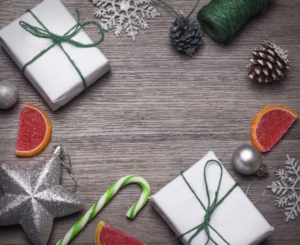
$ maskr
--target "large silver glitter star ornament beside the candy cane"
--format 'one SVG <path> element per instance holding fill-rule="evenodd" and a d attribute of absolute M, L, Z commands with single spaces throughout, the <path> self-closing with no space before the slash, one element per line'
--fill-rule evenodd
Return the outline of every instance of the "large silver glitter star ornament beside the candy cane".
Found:
<path fill-rule="evenodd" d="M 46 245 L 55 217 L 83 208 L 76 195 L 59 185 L 61 151 L 54 150 L 30 170 L 0 163 L 5 193 L 0 199 L 0 226 L 21 224 L 34 245 Z"/>

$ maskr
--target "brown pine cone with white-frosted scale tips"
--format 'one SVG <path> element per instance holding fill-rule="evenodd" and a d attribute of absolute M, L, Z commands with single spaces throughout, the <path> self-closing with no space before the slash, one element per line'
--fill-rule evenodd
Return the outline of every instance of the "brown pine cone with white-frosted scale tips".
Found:
<path fill-rule="evenodd" d="M 247 68 L 252 69 L 248 73 L 249 78 L 258 82 L 268 83 L 277 81 L 290 69 L 287 59 L 287 51 L 276 46 L 271 41 L 263 41 L 258 49 L 252 52 Z"/>

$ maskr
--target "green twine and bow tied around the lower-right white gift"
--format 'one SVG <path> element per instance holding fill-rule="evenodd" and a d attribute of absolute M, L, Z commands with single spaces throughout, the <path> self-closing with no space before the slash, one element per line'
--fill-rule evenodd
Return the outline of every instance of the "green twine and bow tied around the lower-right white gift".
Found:
<path fill-rule="evenodd" d="M 217 163 L 218 166 L 221 169 L 220 179 L 219 179 L 218 186 L 217 186 L 217 189 L 216 189 L 216 192 L 215 192 L 214 200 L 211 203 L 211 205 L 210 205 L 210 198 L 209 198 L 208 186 L 207 186 L 207 181 L 206 181 L 206 166 L 210 162 Z M 178 238 L 181 238 L 184 235 L 186 235 L 186 234 L 188 234 L 188 233 L 196 230 L 196 232 L 187 241 L 186 245 L 189 245 L 189 243 L 191 242 L 191 240 L 193 240 L 202 230 L 204 230 L 205 233 L 206 233 L 206 235 L 207 235 L 207 241 L 206 241 L 205 245 L 208 244 L 209 240 L 212 243 L 214 243 L 215 245 L 217 245 L 217 243 L 215 241 L 213 241 L 213 239 L 210 237 L 208 227 L 210 227 L 227 245 L 229 245 L 228 242 L 212 226 L 209 225 L 209 219 L 210 219 L 213 211 L 217 208 L 217 206 L 219 206 L 224 201 L 224 199 L 233 191 L 233 189 L 238 186 L 238 182 L 235 182 L 235 184 L 230 188 L 230 190 L 217 202 L 217 197 L 218 197 L 218 193 L 219 193 L 219 189 L 220 189 L 220 185 L 221 185 L 222 175 L 223 175 L 223 170 L 222 170 L 221 164 L 218 161 L 216 161 L 216 160 L 208 160 L 206 162 L 206 164 L 204 166 L 204 182 L 205 182 L 205 188 L 206 188 L 206 195 L 207 195 L 207 199 L 208 199 L 208 204 L 207 204 L 207 207 L 205 208 L 204 204 L 201 202 L 201 200 L 199 199 L 199 197 L 197 196 L 197 194 L 195 193 L 195 191 L 191 188 L 191 186 L 189 185 L 189 183 L 187 182 L 187 180 L 183 176 L 183 173 L 181 173 L 181 176 L 182 176 L 183 180 L 185 181 L 185 183 L 187 184 L 188 188 L 194 194 L 194 196 L 199 201 L 199 203 L 201 204 L 202 208 L 205 211 L 204 220 L 203 220 L 203 222 L 200 225 L 198 225 L 198 226 L 190 229 L 186 233 L 183 233 L 180 236 L 178 236 Z"/>

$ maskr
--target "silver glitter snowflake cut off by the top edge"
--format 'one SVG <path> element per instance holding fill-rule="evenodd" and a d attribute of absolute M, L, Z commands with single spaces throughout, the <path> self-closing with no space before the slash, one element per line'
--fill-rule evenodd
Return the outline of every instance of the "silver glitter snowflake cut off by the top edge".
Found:
<path fill-rule="evenodd" d="M 135 40 L 139 28 L 148 29 L 147 19 L 159 13 L 153 8 L 155 0 L 93 0 L 97 6 L 94 15 L 101 19 L 104 30 L 113 30 L 118 37 L 126 33 Z"/>

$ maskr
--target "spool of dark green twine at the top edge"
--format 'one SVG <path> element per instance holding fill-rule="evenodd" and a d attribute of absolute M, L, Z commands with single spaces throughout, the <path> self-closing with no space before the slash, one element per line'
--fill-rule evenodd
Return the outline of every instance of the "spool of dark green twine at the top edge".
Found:
<path fill-rule="evenodd" d="M 245 22 L 263 13 L 271 0 L 211 0 L 197 13 L 208 35 L 218 41 L 230 40 Z"/>

